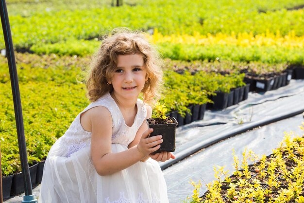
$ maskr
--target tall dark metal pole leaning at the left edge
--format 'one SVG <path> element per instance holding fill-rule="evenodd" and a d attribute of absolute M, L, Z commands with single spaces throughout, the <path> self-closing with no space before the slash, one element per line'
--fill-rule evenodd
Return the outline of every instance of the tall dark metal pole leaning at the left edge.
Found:
<path fill-rule="evenodd" d="M 23 196 L 22 203 L 37 203 L 32 191 L 32 183 L 30 176 L 30 169 L 27 159 L 26 143 L 24 136 L 24 127 L 23 127 L 23 116 L 22 116 L 22 107 L 19 91 L 19 83 L 17 76 L 16 60 L 15 53 L 13 48 L 13 40 L 11 34 L 10 23 L 7 14 L 6 2 L 1 0 L 0 3 L 0 16 L 3 29 L 3 36 L 5 41 L 5 48 L 7 52 L 7 62 L 11 78 L 11 86 L 13 93 L 14 109 L 15 109 L 15 119 L 17 127 L 17 137 L 18 137 L 18 146 L 19 146 L 19 155 L 21 162 L 21 170 L 23 174 L 23 183 L 25 189 L 25 196 Z"/>

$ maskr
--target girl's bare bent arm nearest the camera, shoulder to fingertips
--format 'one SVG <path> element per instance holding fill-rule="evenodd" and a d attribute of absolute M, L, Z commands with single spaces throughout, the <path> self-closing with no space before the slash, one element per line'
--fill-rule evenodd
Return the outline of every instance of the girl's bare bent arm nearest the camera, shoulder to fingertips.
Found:
<path fill-rule="evenodd" d="M 92 127 L 91 158 L 99 175 L 110 175 L 132 166 L 160 148 L 159 144 L 163 142 L 161 136 L 148 137 L 153 131 L 148 129 L 142 133 L 138 145 L 122 152 L 112 153 L 112 117 L 110 111 L 99 106 L 85 113 Z"/>

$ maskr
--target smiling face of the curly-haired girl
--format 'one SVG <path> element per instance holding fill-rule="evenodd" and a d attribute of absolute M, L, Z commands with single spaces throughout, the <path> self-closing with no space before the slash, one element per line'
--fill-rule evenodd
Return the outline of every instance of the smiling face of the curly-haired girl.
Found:
<path fill-rule="evenodd" d="M 147 78 L 142 55 L 118 55 L 117 67 L 110 84 L 117 98 L 137 99 Z"/>

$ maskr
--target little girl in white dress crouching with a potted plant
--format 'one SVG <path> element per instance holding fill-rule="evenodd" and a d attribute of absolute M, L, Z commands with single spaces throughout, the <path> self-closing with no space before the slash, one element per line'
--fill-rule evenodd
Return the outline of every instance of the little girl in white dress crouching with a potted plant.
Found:
<path fill-rule="evenodd" d="M 161 59 L 143 34 L 105 38 L 86 82 L 92 103 L 52 146 L 39 202 L 168 203 L 157 161 L 175 157 L 152 154 L 163 140 L 146 124 L 161 82 Z"/>

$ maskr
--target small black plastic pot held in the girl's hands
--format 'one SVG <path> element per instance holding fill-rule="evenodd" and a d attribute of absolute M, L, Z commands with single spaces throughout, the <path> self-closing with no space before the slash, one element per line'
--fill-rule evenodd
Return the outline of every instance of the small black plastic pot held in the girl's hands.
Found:
<path fill-rule="evenodd" d="M 147 124 L 149 128 L 153 129 L 151 136 L 162 135 L 163 142 L 160 144 L 160 148 L 157 149 L 154 153 L 159 153 L 161 151 L 172 152 L 175 151 L 175 130 L 177 126 L 177 121 L 174 117 L 169 117 L 167 120 L 170 123 L 167 124 L 151 124 L 152 121 L 158 122 L 159 118 L 150 118 L 147 119 Z"/>

